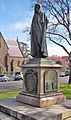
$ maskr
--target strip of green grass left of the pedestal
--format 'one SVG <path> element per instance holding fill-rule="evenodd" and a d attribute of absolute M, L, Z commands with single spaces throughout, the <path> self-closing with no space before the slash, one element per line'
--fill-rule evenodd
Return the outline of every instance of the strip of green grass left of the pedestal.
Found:
<path fill-rule="evenodd" d="M 2 91 L 0 92 L 0 98 L 12 98 L 16 97 L 21 90 L 11 90 L 11 91 Z"/>

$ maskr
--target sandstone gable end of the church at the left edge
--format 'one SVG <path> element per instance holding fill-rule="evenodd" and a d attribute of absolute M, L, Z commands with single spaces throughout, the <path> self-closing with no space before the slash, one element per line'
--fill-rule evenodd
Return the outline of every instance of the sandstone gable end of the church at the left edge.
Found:
<path fill-rule="evenodd" d="M 0 73 L 8 71 L 8 46 L 0 32 Z"/>

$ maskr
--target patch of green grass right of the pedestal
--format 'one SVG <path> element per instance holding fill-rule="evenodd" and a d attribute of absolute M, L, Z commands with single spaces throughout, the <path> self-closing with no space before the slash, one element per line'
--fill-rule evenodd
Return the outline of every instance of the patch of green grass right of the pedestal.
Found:
<path fill-rule="evenodd" d="M 66 96 L 66 98 L 71 98 L 71 84 L 61 84 L 60 91 Z"/>

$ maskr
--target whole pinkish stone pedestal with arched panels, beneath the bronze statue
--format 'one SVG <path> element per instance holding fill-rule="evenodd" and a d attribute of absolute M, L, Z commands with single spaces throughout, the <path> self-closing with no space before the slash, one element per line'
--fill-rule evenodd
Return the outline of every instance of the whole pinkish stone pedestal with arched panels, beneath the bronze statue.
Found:
<path fill-rule="evenodd" d="M 65 100 L 58 88 L 61 65 L 41 58 L 30 59 L 22 68 L 23 89 L 16 97 L 17 101 L 37 107 L 46 107 Z"/>

